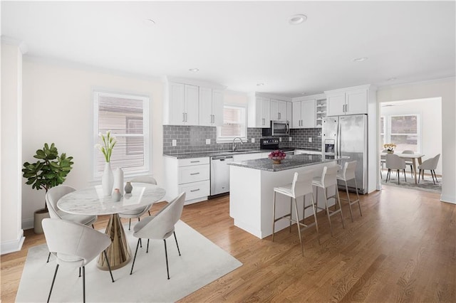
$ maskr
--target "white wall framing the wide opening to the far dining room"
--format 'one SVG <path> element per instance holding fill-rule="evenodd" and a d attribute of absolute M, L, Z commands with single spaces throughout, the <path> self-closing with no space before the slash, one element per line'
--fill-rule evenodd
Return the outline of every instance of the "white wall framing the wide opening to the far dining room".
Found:
<path fill-rule="evenodd" d="M 442 98 L 442 195 L 441 201 L 456 203 L 456 78 L 381 87 L 378 102 Z M 438 119 L 439 117 L 435 117 Z"/>

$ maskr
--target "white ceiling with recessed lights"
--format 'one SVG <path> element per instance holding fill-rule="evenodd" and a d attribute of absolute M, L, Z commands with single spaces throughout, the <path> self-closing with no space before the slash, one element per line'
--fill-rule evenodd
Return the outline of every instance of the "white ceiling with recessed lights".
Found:
<path fill-rule="evenodd" d="M 31 57 L 296 97 L 455 76 L 455 15 L 455 1 L 1 1 L 1 33 Z"/>

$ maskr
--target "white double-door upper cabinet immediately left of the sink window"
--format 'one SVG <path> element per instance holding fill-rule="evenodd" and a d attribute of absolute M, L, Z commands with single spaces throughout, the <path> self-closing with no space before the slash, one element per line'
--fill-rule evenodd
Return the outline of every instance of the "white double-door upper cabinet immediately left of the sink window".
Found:
<path fill-rule="evenodd" d="M 199 87 L 199 125 L 222 126 L 223 92 L 210 87 Z"/>

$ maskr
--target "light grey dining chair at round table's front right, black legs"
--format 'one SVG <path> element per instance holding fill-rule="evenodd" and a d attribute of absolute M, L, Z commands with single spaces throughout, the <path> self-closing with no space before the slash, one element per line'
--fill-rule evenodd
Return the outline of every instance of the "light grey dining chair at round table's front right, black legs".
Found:
<path fill-rule="evenodd" d="M 168 267 L 168 254 L 166 247 L 166 239 L 171 235 L 174 235 L 177 252 L 179 252 L 179 244 L 177 244 L 177 238 L 175 233 L 175 224 L 182 215 L 182 209 L 184 208 L 185 192 L 181 193 L 177 198 L 168 203 L 162 208 L 155 216 L 150 216 L 142 219 L 133 228 L 133 236 L 138 238 L 138 244 L 136 245 L 135 257 L 133 258 L 133 264 L 131 265 L 130 275 L 133 274 L 133 267 L 135 266 L 136 255 L 138 254 L 138 246 L 140 245 L 141 238 L 147 238 L 147 250 L 149 250 L 149 240 L 163 240 L 165 243 L 165 258 L 166 258 L 166 272 L 168 280 L 170 279 L 170 269 Z"/>

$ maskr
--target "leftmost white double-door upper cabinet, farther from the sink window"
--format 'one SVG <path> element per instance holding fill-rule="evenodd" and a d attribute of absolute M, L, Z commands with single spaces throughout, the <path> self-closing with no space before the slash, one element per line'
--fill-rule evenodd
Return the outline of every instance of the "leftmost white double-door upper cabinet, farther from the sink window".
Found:
<path fill-rule="evenodd" d="M 196 85 L 168 83 L 163 124 L 198 125 L 199 90 Z"/>

